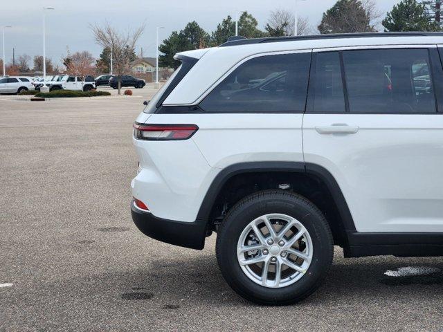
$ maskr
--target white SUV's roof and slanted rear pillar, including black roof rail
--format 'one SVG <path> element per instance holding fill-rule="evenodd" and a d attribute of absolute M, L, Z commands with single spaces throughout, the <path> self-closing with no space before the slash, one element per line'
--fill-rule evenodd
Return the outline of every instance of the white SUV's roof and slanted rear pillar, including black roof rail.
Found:
<path fill-rule="evenodd" d="M 435 46 L 443 44 L 443 33 L 369 33 L 240 39 L 214 48 L 178 53 L 177 57 L 199 59 L 163 104 L 194 104 L 215 82 L 243 59 L 258 54 L 359 48 L 359 46 Z"/>

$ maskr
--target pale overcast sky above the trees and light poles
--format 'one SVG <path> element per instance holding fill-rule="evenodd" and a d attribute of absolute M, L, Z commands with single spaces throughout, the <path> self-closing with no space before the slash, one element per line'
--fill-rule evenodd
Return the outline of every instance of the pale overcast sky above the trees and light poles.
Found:
<path fill-rule="evenodd" d="M 325 10 L 336 0 L 298 0 L 298 13 L 309 17 L 314 28 Z M 383 13 L 399 0 L 376 0 Z M 293 10 L 296 0 L 0 0 L 0 26 L 6 29 L 6 59 L 26 53 L 33 57 L 42 54 L 42 8 L 54 7 L 46 16 L 46 55 L 60 63 L 66 55 L 89 50 L 95 57 L 100 46 L 93 41 L 89 24 L 111 24 L 128 30 L 145 24 L 145 33 L 137 44 L 137 53 L 143 47 L 144 56 L 155 56 L 155 28 L 164 26 L 160 40 L 173 30 L 182 29 L 189 21 L 198 24 L 209 33 L 227 15 L 248 10 L 264 28 L 269 12 L 277 8 Z M 1 45 L 0 45 L 1 47 Z M 1 57 L 1 53 L 0 53 Z"/>

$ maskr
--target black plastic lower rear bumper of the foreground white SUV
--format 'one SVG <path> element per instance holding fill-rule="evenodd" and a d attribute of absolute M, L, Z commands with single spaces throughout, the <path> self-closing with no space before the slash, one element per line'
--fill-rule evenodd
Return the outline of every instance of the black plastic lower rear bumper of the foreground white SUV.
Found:
<path fill-rule="evenodd" d="M 131 203 L 132 220 L 148 237 L 175 246 L 201 250 L 206 237 L 206 221 L 174 221 L 157 218 L 150 212 L 142 212 Z"/>

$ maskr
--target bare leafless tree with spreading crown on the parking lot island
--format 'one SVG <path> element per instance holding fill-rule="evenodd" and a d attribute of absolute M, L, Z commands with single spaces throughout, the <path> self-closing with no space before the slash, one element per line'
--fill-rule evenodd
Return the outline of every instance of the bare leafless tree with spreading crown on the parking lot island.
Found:
<path fill-rule="evenodd" d="M 120 33 L 109 23 L 105 26 L 91 26 L 96 43 L 103 48 L 109 48 L 113 59 L 114 72 L 118 76 L 118 94 L 120 95 L 121 77 L 130 71 L 131 57 L 138 38 L 145 30 L 141 26 L 132 32 Z"/>

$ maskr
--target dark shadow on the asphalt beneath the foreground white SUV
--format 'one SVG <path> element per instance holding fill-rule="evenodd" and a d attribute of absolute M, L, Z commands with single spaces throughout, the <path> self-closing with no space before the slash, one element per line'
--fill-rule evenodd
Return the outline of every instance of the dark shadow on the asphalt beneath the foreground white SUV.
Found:
<path fill-rule="evenodd" d="M 403 277 L 385 275 L 388 270 L 397 270 L 405 266 L 425 266 L 437 272 Z M 208 302 L 207 304 L 211 306 L 226 306 L 235 303 L 251 305 L 236 295 L 224 282 L 213 255 L 199 255 L 192 259 L 177 258 L 166 262 L 155 260 L 150 262 L 150 268 L 129 270 L 121 279 L 125 280 L 125 284 L 120 286 L 127 290 L 120 295 L 123 299 L 160 297 L 174 303 L 190 300 L 203 302 L 202 304 Z M 443 284 L 443 259 L 440 257 L 426 259 L 338 258 L 334 261 L 323 285 L 314 295 L 301 303 L 330 302 L 333 304 L 341 299 L 347 302 L 361 302 L 380 297 L 395 301 L 404 297 L 406 293 L 408 296 L 416 294 L 421 298 L 441 297 L 443 295 L 441 284 Z"/>

